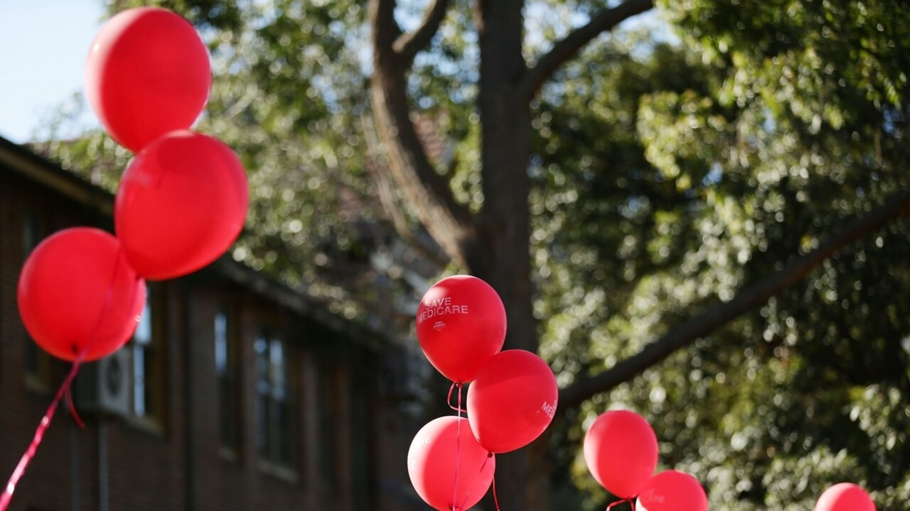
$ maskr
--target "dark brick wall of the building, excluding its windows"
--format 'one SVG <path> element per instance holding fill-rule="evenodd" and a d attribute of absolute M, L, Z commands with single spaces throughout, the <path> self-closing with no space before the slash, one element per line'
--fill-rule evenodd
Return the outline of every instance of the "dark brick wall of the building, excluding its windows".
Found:
<path fill-rule="evenodd" d="M 45 216 L 48 231 L 111 225 L 104 207 L 86 205 L 38 184 L 0 158 L 0 477 L 12 473 L 68 370 L 59 361 L 52 365 L 49 392 L 25 386 L 27 336 L 18 317 L 15 288 L 25 256 L 22 218 L 29 210 Z M 395 486 L 392 494 L 407 494 L 401 489 L 407 485 L 403 461 L 416 429 L 399 424 L 398 412 L 378 390 L 383 388 L 380 379 L 391 376 L 381 368 L 374 348 L 216 269 L 155 283 L 151 289 L 165 361 L 165 406 L 159 423 L 149 427 L 128 417 L 86 415 L 80 429 L 66 406 L 60 406 L 16 488 L 11 510 L 415 508 L 402 504 L 411 496 L 384 495 L 389 493 L 389 481 Z M 214 318 L 226 306 L 237 315 L 238 326 L 237 456 L 225 455 L 218 429 Z M 287 340 L 296 400 L 293 474 L 270 469 L 256 446 L 252 342 L 263 326 Z M 380 459 L 386 455 L 389 459 Z"/>

